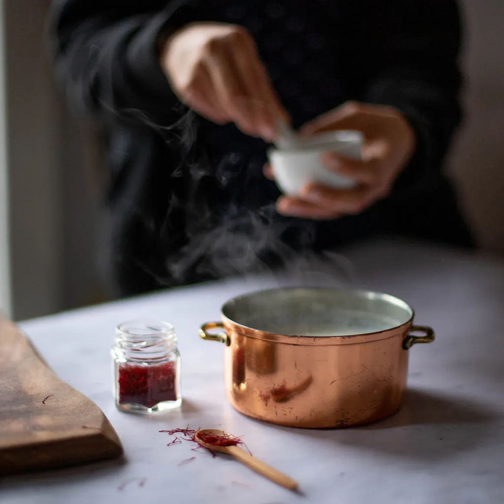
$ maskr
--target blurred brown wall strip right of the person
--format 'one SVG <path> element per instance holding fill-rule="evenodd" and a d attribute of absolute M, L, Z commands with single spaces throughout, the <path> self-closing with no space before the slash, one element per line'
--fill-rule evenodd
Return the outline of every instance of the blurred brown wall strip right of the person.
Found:
<path fill-rule="evenodd" d="M 481 247 L 504 256 L 504 1 L 462 0 L 466 124 L 450 160 Z"/>

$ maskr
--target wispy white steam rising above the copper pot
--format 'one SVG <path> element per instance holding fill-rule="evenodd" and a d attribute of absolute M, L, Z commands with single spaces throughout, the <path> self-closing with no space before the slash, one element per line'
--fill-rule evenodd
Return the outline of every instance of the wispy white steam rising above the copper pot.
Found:
<path fill-rule="evenodd" d="M 186 201 L 171 197 L 164 218 L 168 223 L 174 209 L 183 207 L 187 242 L 166 258 L 166 276 L 142 266 L 160 285 L 178 285 L 187 278 L 205 280 L 249 274 L 273 276 L 283 285 L 334 287 L 353 282 L 351 265 L 343 256 L 333 252 L 316 254 L 311 250 L 314 240 L 311 230 L 297 227 L 300 249 L 285 243 L 282 235 L 294 225 L 295 219 L 274 218 L 274 202 L 251 211 L 231 201 L 223 213 L 216 210 L 214 195 L 205 194 L 202 184 L 210 177 L 225 188 L 234 176 L 232 170 L 237 167 L 230 167 L 226 162 L 229 159 L 216 165 L 208 161 L 197 143 L 199 121 L 192 111 L 185 111 L 169 127 L 153 123 L 141 111 L 127 113 L 155 129 L 170 149 L 180 152 L 181 162 L 173 170 L 173 177 L 182 177 L 184 171 L 189 171 L 191 188 Z M 167 198 L 170 197 L 167 195 Z M 158 231 L 159 239 L 163 239 L 164 227 Z M 170 239 L 169 235 L 165 238 Z"/>

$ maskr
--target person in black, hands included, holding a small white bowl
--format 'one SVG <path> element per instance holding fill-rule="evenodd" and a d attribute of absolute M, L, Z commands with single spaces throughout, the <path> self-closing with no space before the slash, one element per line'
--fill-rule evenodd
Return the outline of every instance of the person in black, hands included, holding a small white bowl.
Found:
<path fill-rule="evenodd" d="M 56 73 L 107 146 L 119 296 L 281 266 L 373 235 L 473 246 L 442 172 L 461 119 L 455 0 L 54 0 Z M 359 184 L 282 196 L 280 120 L 356 129 Z"/>

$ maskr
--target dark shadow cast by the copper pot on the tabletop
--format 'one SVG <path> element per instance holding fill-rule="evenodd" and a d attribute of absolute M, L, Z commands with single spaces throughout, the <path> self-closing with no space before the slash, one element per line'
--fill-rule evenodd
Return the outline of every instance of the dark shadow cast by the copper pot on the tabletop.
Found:
<path fill-rule="evenodd" d="M 337 429 L 274 428 L 300 436 L 322 439 L 405 459 L 435 461 L 458 457 L 485 443 L 492 428 L 499 428 L 504 415 L 487 405 L 460 396 L 420 390 L 406 393 L 402 409 L 394 416 L 372 424 Z"/>

